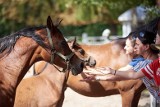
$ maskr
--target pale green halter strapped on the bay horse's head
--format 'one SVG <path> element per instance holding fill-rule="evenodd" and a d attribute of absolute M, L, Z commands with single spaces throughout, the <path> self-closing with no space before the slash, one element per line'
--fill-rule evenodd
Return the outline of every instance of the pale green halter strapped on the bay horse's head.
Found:
<path fill-rule="evenodd" d="M 47 37 L 48 37 L 48 40 L 49 40 L 49 43 L 51 45 L 51 61 L 50 63 L 53 64 L 53 61 L 54 61 L 54 54 L 58 55 L 59 57 L 61 57 L 62 59 L 64 59 L 64 61 L 67 63 L 67 68 L 66 69 L 63 69 L 62 72 L 65 72 L 66 70 L 69 70 L 69 65 L 70 65 L 70 60 L 71 58 L 73 57 L 74 53 L 71 52 L 71 54 L 69 55 L 63 55 L 59 52 L 57 52 L 54 48 L 54 45 L 53 45 L 53 41 L 52 41 L 52 38 L 51 38 L 51 33 L 50 33 L 50 30 L 48 28 L 46 28 L 47 30 Z M 61 70 L 60 70 L 61 71 Z"/>

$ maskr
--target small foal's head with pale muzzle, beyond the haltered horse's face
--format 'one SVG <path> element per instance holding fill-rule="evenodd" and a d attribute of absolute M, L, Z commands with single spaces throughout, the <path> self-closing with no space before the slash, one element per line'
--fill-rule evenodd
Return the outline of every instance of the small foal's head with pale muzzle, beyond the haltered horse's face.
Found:
<path fill-rule="evenodd" d="M 96 60 L 85 52 L 81 45 L 76 42 L 76 38 L 67 42 L 70 49 L 84 61 L 85 66 L 94 67 L 96 65 Z"/>

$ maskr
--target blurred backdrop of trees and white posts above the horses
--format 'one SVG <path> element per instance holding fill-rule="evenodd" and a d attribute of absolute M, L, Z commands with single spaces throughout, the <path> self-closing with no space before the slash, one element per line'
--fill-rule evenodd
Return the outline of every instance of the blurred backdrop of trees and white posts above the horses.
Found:
<path fill-rule="evenodd" d="M 160 16 L 160 0 L 0 0 L 0 37 L 46 25 L 48 15 L 63 19 L 60 29 L 66 38 L 100 42 L 106 36 L 127 36 Z"/>

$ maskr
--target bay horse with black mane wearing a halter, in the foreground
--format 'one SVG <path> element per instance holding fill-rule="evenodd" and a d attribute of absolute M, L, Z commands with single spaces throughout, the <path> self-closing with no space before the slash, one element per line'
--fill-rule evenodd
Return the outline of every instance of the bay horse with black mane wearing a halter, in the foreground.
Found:
<path fill-rule="evenodd" d="M 82 72 L 83 61 L 70 50 L 57 26 L 49 16 L 47 26 L 25 28 L 0 39 L 0 107 L 13 107 L 18 84 L 37 61 L 51 60 L 75 75 Z M 66 56 L 69 63 L 63 59 Z"/>

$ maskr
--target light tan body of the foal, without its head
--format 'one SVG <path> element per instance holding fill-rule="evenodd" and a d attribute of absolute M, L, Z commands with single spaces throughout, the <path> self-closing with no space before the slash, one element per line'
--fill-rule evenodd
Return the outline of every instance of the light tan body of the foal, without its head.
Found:
<path fill-rule="evenodd" d="M 37 62 L 36 66 L 40 69 L 36 70 L 43 69 L 45 64 L 44 61 Z M 67 73 L 59 72 L 53 65 L 48 64 L 44 72 L 23 79 L 16 90 L 14 107 L 56 107 L 64 91 L 63 84 Z"/>

